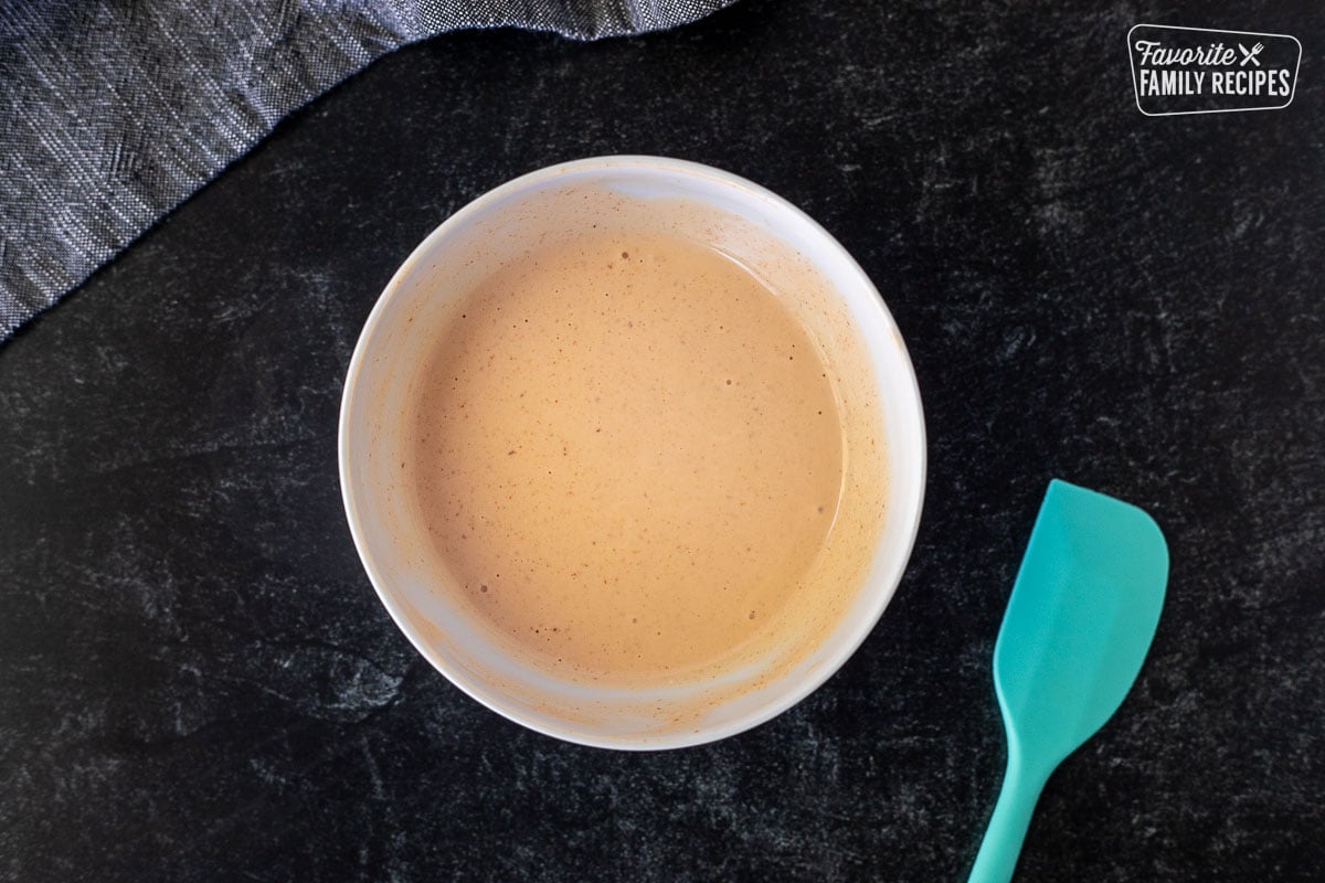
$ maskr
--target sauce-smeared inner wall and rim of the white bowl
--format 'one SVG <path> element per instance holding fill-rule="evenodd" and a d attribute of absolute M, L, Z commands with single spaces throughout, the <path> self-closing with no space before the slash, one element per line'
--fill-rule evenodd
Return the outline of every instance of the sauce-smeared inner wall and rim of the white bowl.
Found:
<path fill-rule="evenodd" d="M 844 507 L 855 510 L 839 520 L 861 527 L 856 535 L 839 532 L 837 552 L 822 556 L 820 577 L 844 586 L 841 604 L 822 612 L 829 621 L 804 616 L 800 643 L 794 637 L 780 659 L 751 659 L 721 679 L 647 694 L 554 680 L 472 621 L 433 584 L 439 563 L 415 527 L 413 494 L 400 479 L 409 453 L 399 416 L 408 410 L 416 367 L 435 346 L 436 330 L 458 311 L 458 299 L 502 262 L 604 218 L 645 228 L 664 218 L 673 232 L 718 248 L 779 294 L 790 293 L 788 307 L 836 373 L 844 424 L 855 428 L 848 429 L 847 471 L 856 487 L 843 495 Z M 415 645 L 457 686 L 501 714 L 562 737 L 620 747 L 727 735 L 790 706 L 832 674 L 892 594 L 914 531 L 924 462 L 910 365 L 859 267 L 808 218 L 774 197 L 693 168 L 592 165 L 525 179 L 470 205 L 429 237 L 392 281 L 374 319 L 347 401 L 360 551 Z M 886 461 L 900 467 L 888 470 Z M 909 470 L 909 462 L 917 469 Z M 880 508 L 898 518 L 880 522 Z M 799 663 L 790 666 L 788 659 Z"/>

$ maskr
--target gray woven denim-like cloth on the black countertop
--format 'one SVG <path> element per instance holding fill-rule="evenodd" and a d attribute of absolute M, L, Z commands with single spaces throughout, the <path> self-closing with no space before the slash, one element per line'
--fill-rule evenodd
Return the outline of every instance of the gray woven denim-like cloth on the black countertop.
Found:
<path fill-rule="evenodd" d="M 731 1 L 0 1 L 0 342 L 392 49 L 462 28 L 644 33 Z"/>

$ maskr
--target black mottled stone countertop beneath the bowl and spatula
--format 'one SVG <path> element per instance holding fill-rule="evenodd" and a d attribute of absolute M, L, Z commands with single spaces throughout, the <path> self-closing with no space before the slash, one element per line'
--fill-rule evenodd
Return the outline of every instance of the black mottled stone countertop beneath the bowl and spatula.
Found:
<path fill-rule="evenodd" d="M 1018 879 L 1325 879 L 1325 19 L 1313 4 L 742 0 L 576 44 L 443 37 L 315 101 L 0 346 L 0 878 L 958 880 L 1003 765 L 990 658 L 1051 477 L 1163 527 L 1118 715 Z M 1281 111 L 1142 116 L 1140 21 L 1287 32 Z M 893 310 L 924 524 L 808 700 L 681 752 L 523 731 L 378 602 L 342 377 L 450 212 L 554 162 L 784 195 Z"/>

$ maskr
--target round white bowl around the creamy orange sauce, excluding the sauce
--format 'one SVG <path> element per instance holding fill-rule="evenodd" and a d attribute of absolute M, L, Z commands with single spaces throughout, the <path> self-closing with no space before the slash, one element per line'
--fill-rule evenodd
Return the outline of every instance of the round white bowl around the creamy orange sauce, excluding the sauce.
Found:
<path fill-rule="evenodd" d="M 719 245 L 747 266 L 762 258 L 755 252 L 741 254 L 742 248 L 753 249 L 749 242 L 755 240 L 776 242 L 831 289 L 864 343 L 860 364 L 868 365 L 877 389 L 886 482 L 878 491 L 877 541 L 872 560 L 861 563 L 859 592 L 794 670 L 726 690 L 684 725 L 676 724 L 668 703 L 690 702 L 690 694 L 712 684 L 640 695 L 568 683 L 486 639 L 423 567 L 423 540 L 409 528 L 408 492 L 392 469 L 404 443 L 399 414 L 429 344 L 420 332 L 427 318 L 490 271 L 490 261 L 484 270 L 472 259 L 477 250 L 527 248 L 534 236 L 527 218 L 539 213 L 530 205 L 546 209 L 547 200 L 583 188 L 649 201 L 660 210 L 669 200 L 702 204 L 733 218 L 733 229 L 745 230 L 741 242 Z M 575 222 L 572 210 L 563 217 Z M 350 361 L 339 466 L 346 516 L 368 577 L 396 625 L 439 671 L 482 704 L 538 732 L 587 745 L 660 749 L 712 741 L 768 720 L 819 687 L 860 646 L 892 598 L 914 543 L 925 488 L 925 425 L 916 375 L 892 315 L 860 266 L 823 228 L 786 200 L 726 172 L 673 159 L 606 156 L 509 181 L 458 210 L 415 249 L 379 298 Z"/>

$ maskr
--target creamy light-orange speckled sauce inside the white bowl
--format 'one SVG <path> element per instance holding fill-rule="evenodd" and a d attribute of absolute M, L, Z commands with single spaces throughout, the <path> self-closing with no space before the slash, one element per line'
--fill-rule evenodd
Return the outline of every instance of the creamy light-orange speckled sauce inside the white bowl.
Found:
<path fill-rule="evenodd" d="M 815 606 L 843 425 L 759 279 L 680 237 L 600 232 L 496 271 L 453 315 L 403 485 L 506 643 L 572 679 L 669 683 Z"/>

